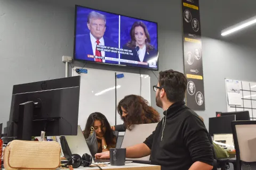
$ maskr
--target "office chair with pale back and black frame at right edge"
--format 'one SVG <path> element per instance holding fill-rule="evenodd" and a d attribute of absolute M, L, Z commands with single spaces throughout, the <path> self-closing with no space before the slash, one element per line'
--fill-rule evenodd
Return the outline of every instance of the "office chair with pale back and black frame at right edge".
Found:
<path fill-rule="evenodd" d="M 231 128 L 236 149 L 236 169 L 256 169 L 256 121 L 233 121 Z"/>

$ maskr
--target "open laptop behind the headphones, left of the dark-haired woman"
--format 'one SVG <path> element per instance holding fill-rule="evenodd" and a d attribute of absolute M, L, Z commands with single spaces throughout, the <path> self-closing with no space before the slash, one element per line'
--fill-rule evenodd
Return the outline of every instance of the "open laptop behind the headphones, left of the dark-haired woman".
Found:
<path fill-rule="evenodd" d="M 83 154 L 89 154 L 93 157 L 93 164 L 110 164 L 110 159 L 94 159 L 94 155 L 91 154 L 89 147 L 87 146 L 84 134 L 81 127 L 77 126 L 76 136 L 65 136 L 68 143 L 71 154 L 78 154 L 82 156 Z"/>

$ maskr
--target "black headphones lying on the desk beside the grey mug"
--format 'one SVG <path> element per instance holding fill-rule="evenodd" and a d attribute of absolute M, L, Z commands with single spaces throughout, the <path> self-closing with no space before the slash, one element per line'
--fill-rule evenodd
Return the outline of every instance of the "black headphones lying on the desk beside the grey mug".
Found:
<path fill-rule="evenodd" d="M 83 154 L 83 156 L 81 157 L 78 154 L 73 154 L 68 158 L 68 163 L 65 166 L 71 165 L 73 168 L 78 168 L 79 166 L 86 167 L 90 166 L 91 164 L 93 164 L 91 155 Z M 100 166 L 96 166 L 101 169 Z"/>

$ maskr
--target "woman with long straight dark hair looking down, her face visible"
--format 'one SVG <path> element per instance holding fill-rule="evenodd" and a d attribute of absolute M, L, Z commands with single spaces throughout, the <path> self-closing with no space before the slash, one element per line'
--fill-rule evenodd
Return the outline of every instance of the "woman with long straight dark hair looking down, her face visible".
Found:
<path fill-rule="evenodd" d="M 91 127 L 93 127 L 97 136 L 98 153 L 116 147 L 116 137 L 105 115 L 95 112 L 88 117 L 84 130 L 85 139 L 89 138 Z"/>

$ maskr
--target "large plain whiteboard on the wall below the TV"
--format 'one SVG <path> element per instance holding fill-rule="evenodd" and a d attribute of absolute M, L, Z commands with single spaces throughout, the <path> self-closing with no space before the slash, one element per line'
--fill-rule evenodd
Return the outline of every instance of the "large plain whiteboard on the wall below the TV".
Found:
<path fill-rule="evenodd" d="M 72 76 L 81 75 L 78 124 L 82 130 L 93 112 L 104 114 L 110 125 L 123 124 L 116 106 L 127 95 L 141 95 L 151 103 L 149 75 L 90 68 L 86 68 L 87 73 L 78 74 L 76 69 L 81 67 L 74 67 Z M 116 74 L 124 77 L 116 79 Z"/>

